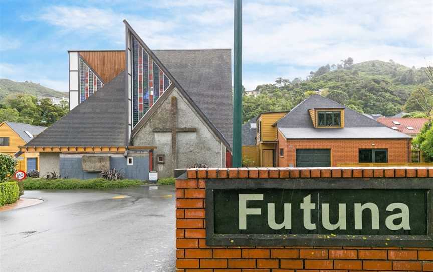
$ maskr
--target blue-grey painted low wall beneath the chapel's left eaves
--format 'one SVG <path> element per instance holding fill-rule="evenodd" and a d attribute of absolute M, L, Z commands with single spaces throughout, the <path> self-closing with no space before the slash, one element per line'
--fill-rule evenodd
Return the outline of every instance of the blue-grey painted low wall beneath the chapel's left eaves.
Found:
<path fill-rule="evenodd" d="M 101 154 L 95 154 L 101 156 Z M 123 154 L 104 154 L 110 156 L 110 169 L 115 168 L 125 174 L 128 179 L 149 179 L 149 154 L 128 154 L 133 157 L 133 165 L 127 165 L 127 158 Z M 61 154 L 60 156 L 60 175 L 62 177 L 74 179 L 97 178 L 100 172 L 83 171 L 81 158 L 83 154 Z"/>

